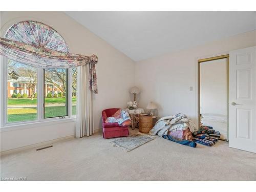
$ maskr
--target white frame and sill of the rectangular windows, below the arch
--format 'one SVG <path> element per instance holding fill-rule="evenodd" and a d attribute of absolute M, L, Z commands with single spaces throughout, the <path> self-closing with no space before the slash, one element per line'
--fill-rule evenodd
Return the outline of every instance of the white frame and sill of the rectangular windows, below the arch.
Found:
<path fill-rule="evenodd" d="M 74 121 L 76 118 L 76 115 L 72 116 L 72 69 L 68 69 L 68 100 L 69 100 L 69 105 L 68 105 L 68 110 L 69 110 L 69 115 L 68 116 L 63 116 L 62 117 L 52 117 L 52 118 L 47 118 L 44 119 L 44 108 L 43 108 L 43 102 L 44 102 L 44 69 L 37 69 L 37 84 L 36 84 L 36 93 L 37 93 L 37 120 L 33 121 L 19 121 L 19 122 L 7 122 L 7 72 L 8 72 L 8 62 L 7 58 L 1 56 L 0 61 L 1 61 L 1 74 L 0 74 L 0 79 L 2 79 L 2 83 L 0 84 L 0 108 L 3 109 L 1 110 L 0 113 L 0 125 L 1 129 L 0 131 L 7 131 L 7 130 L 13 130 L 13 129 L 18 129 L 18 127 L 23 127 L 23 125 L 26 125 L 29 127 L 29 125 L 32 125 L 32 127 L 36 126 L 41 126 L 41 125 L 48 125 L 48 122 L 53 123 L 61 123 L 61 122 L 69 122 L 69 121 Z"/>

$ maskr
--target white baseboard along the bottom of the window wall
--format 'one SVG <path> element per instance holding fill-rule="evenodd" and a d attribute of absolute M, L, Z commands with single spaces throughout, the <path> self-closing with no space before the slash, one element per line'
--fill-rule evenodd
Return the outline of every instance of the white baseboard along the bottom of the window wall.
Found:
<path fill-rule="evenodd" d="M 95 129 L 94 133 L 98 133 L 101 130 L 102 130 L 102 128 Z M 53 139 L 53 140 L 50 140 L 50 141 L 45 141 L 45 142 L 35 143 L 35 144 L 23 146 L 23 147 L 13 148 L 11 150 L 3 151 L 0 154 L 1 155 L 6 155 L 6 154 L 11 154 L 11 153 L 16 153 L 16 152 L 19 152 L 19 151 L 29 150 L 31 148 L 36 148 L 36 147 L 39 147 L 39 146 L 45 146 L 45 145 L 49 145 L 49 144 L 52 144 L 52 143 L 55 143 L 55 142 L 58 142 L 58 141 L 72 139 L 72 138 L 75 138 L 75 135 L 69 135 L 69 136 L 66 136 L 66 137 L 61 137 L 61 138 Z"/>

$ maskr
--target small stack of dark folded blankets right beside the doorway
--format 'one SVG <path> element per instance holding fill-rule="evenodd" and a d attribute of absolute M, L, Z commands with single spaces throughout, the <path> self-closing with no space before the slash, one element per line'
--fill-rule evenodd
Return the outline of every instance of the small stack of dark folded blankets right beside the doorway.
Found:
<path fill-rule="evenodd" d="M 212 146 L 217 143 L 221 134 L 219 131 L 215 131 L 211 126 L 202 125 L 200 129 L 193 133 L 193 141 L 201 143 L 206 146 Z"/>

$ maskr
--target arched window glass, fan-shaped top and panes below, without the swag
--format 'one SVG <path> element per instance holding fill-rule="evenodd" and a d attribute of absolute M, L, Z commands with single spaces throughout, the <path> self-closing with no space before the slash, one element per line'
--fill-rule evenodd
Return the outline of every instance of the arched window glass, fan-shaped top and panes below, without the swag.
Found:
<path fill-rule="evenodd" d="M 11 26 L 5 38 L 69 52 L 66 41 L 56 30 L 32 20 Z M 75 115 L 76 68 L 37 69 L 8 59 L 7 70 L 6 123 Z M 68 76 L 69 70 L 72 77 Z M 69 87 L 72 87 L 72 93 L 69 93 Z M 72 99 L 69 96 L 73 96 Z M 73 101 L 73 106 L 69 100 Z M 43 110 L 39 110 L 39 106 L 43 106 Z"/>

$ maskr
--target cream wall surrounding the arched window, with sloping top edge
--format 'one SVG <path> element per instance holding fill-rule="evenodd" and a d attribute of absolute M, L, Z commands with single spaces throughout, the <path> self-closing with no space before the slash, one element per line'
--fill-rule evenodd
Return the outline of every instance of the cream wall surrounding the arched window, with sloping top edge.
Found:
<path fill-rule="evenodd" d="M 53 27 L 67 41 L 71 53 L 98 56 L 96 72 L 99 93 L 93 96 L 95 129 L 102 127 L 103 109 L 126 106 L 127 101 L 131 100 L 129 89 L 134 86 L 133 60 L 62 12 L 1 12 L 1 36 L 11 25 L 28 19 Z M 1 151 L 73 135 L 75 121 L 19 128 L 22 130 L 1 132 Z"/>

